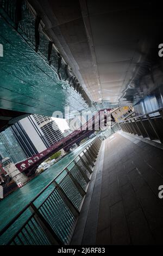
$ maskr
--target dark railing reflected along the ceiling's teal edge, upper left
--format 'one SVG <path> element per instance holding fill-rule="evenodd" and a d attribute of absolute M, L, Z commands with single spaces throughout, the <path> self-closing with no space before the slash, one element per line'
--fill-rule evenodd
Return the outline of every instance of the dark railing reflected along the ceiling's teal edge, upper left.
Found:
<path fill-rule="evenodd" d="M 59 53 L 54 42 L 46 34 L 45 25 L 37 15 L 32 5 L 26 0 L 0 0 L 0 8 L 10 19 L 10 23 L 18 33 L 28 42 L 30 47 L 57 72 L 60 80 L 67 80 L 74 90 L 80 93 L 85 102 L 91 105 L 89 96 L 85 93 L 72 69 Z"/>

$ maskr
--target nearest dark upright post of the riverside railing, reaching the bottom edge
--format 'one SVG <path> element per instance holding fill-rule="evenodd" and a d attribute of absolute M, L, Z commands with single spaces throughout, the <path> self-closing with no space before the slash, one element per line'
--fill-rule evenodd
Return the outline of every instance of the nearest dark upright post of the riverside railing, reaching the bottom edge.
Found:
<path fill-rule="evenodd" d="M 45 220 L 45 218 L 40 214 L 39 210 L 33 203 L 30 203 L 30 211 L 34 213 L 35 221 L 40 225 L 40 227 L 45 231 L 45 234 L 48 237 L 49 242 L 52 245 L 62 245 L 63 243 L 60 241 L 58 236 L 54 233 L 51 225 Z"/>

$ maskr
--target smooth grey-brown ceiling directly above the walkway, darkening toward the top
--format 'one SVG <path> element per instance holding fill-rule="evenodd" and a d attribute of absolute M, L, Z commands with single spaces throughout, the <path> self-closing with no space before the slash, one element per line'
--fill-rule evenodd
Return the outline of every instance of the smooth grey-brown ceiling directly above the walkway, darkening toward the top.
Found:
<path fill-rule="evenodd" d="M 154 1 L 30 2 L 92 101 L 126 105 L 160 86 L 143 81 L 150 80 L 160 43 Z"/>

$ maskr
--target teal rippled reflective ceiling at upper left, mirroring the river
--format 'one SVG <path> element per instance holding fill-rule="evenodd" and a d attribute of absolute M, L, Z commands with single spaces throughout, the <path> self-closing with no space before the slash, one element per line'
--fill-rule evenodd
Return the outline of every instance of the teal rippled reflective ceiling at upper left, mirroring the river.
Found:
<path fill-rule="evenodd" d="M 12 13 L 10 4 L 5 6 Z M 26 19 L 20 22 L 27 29 L 27 37 L 20 27 L 15 29 L 14 22 L 2 5 L 0 14 L 0 43 L 3 45 L 3 57 L 0 58 L 0 108 L 48 116 L 55 111 L 64 113 L 65 106 L 70 111 L 86 108 L 88 105 L 81 94 L 65 78 L 59 79 L 58 65 L 49 65 L 45 56 L 41 55 L 41 47 L 47 54 L 49 41 L 44 39 L 44 45 L 39 45 L 39 52 L 35 51 L 35 45 L 30 41 L 31 38 L 35 39 L 35 23 L 34 27 L 30 23 L 33 16 L 28 16 L 28 13 Z M 56 62 L 58 64 L 58 59 Z"/>

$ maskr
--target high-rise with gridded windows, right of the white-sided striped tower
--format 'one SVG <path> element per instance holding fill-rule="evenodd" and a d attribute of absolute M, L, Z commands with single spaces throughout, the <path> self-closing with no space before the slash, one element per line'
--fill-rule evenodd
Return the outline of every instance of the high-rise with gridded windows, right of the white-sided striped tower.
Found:
<path fill-rule="evenodd" d="M 38 114 L 34 114 L 33 117 L 50 145 L 53 145 L 64 138 L 58 125 L 51 117 L 45 117 Z"/>

